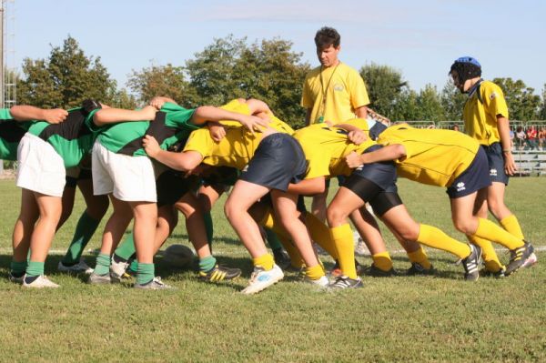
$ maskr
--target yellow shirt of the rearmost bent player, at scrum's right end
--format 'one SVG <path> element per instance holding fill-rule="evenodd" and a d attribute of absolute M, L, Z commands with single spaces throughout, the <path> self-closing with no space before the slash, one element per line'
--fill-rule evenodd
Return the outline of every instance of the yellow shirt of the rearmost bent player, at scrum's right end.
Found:
<path fill-rule="evenodd" d="M 480 144 L 458 131 L 390 126 L 378 138 L 383 146 L 399 144 L 406 156 L 395 160 L 399 176 L 431 186 L 449 187 L 478 153 Z"/>

